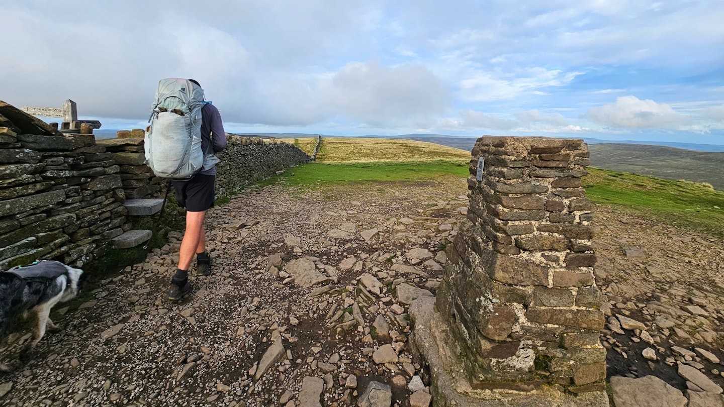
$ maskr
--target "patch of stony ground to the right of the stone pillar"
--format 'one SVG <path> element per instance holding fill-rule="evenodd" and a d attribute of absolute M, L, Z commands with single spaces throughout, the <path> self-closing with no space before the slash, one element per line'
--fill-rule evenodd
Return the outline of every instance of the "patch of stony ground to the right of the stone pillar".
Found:
<path fill-rule="evenodd" d="M 723 406 L 724 243 L 604 206 L 597 225 L 608 376 L 660 379 L 613 380 L 618 405 L 636 405 L 623 394 L 656 400 L 691 390 L 689 406 Z M 658 405 L 686 405 L 686 398 L 676 400 Z"/>

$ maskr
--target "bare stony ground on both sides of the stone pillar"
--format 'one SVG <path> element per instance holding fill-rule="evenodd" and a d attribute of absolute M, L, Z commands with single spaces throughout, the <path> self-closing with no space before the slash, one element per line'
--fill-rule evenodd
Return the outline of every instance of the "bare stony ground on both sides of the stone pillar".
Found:
<path fill-rule="evenodd" d="M 413 298 L 436 292 L 439 249 L 464 217 L 465 193 L 464 180 L 249 188 L 210 212 L 214 274 L 192 277 L 184 301 L 163 298 L 174 233 L 143 264 L 103 280 L 90 301 L 57 310 L 63 329 L 28 358 L 16 355 L 30 334 L 10 335 L 0 355 L 13 370 L 0 376 L 0 402 L 429 406 L 406 313 Z M 609 375 L 653 374 L 680 394 L 716 391 L 724 243 L 604 206 L 597 219 Z"/>

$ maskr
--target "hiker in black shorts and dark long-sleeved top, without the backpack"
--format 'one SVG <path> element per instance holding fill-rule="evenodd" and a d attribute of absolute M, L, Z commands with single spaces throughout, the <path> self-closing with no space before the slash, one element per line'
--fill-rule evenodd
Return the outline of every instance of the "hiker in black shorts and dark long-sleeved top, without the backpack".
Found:
<path fill-rule="evenodd" d="M 197 81 L 190 79 L 201 88 Z M 217 154 L 227 146 L 226 133 L 222 125 L 219 110 L 211 103 L 201 108 L 201 151 L 204 152 L 204 164 L 200 172 L 190 180 L 171 180 L 176 193 L 176 201 L 186 209 L 186 230 L 181 240 L 179 263 L 176 274 L 166 295 L 169 300 L 177 301 L 191 289 L 188 283 L 188 269 L 196 254 L 196 275 L 211 274 L 211 256 L 206 252 L 206 231 L 203 219 L 206 210 L 214 206 L 214 182 L 216 180 L 216 159 L 207 160 L 210 154 Z M 207 162 L 209 161 L 209 162 Z"/>

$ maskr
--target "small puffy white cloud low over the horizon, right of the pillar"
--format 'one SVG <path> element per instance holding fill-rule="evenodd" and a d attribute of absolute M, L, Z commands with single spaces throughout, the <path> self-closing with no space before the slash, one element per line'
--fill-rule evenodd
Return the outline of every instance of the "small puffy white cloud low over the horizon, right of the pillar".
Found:
<path fill-rule="evenodd" d="M 629 129 L 678 129 L 689 121 L 668 104 L 657 104 L 651 99 L 620 96 L 611 104 L 589 109 L 588 117 L 599 125 Z"/>

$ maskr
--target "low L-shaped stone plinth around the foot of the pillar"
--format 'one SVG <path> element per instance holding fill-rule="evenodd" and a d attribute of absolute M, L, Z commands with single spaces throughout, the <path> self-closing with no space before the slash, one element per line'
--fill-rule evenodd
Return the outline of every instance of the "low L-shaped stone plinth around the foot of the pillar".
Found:
<path fill-rule="evenodd" d="M 415 322 L 411 340 L 416 353 L 430 368 L 430 390 L 435 406 L 456 407 L 608 407 L 605 391 L 571 395 L 551 387 L 528 393 L 496 390 L 476 392 L 461 377 L 463 365 L 450 347 L 452 334 L 434 310 L 435 298 L 418 298 L 410 306 Z M 462 390 L 465 393 L 459 393 Z M 657 405 L 658 406 L 658 405 Z"/>

